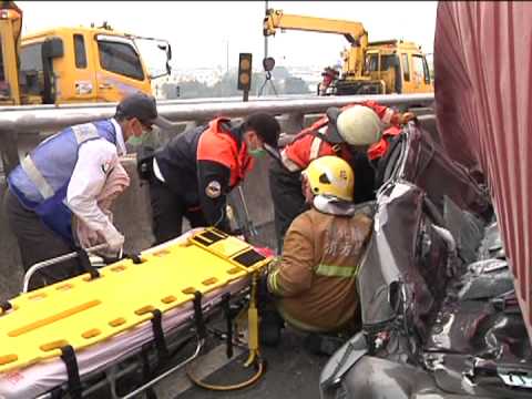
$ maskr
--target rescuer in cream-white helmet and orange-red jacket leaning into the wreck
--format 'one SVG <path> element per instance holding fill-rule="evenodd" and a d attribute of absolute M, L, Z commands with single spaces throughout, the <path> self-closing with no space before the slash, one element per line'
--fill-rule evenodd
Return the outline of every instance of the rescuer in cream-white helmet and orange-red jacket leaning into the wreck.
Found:
<path fill-rule="evenodd" d="M 269 168 L 278 250 L 291 221 L 305 211 L 300 171 L 310 161 L 324 155 L 346 160 L 357 171 L 355 203 L 374 200 L 375 171 L 366 151 L 379 142 L 382 127 L 405 124 L 413 117 L 410 112 L 401 114 L 375 101 L 365 101 L 341 110 L 329 109 L 324 117 L 303 130 L 282 151 L 282 162 L 273 162 Z"/>

